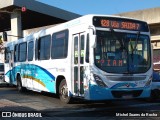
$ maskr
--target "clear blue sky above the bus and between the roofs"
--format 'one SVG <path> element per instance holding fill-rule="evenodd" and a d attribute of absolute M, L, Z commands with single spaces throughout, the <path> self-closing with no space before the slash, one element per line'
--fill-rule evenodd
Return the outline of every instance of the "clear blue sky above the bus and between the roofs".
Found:
<path fill-rule="evenodd" d="M 160 7 L 160 0 L 36 0 L 80 15 L 118 14 Z"/>

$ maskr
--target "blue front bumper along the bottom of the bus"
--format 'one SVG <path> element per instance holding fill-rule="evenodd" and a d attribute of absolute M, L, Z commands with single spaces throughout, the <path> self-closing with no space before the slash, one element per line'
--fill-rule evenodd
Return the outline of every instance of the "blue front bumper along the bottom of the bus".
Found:
<path fill-rule="evenodd" d="M 113 100 L 113 99 L 134 99 L 149 98 L 151 87 L 128 88 L 128 89 L 109 89 L 96 85 L 90 86 L 86 95 L 88 100 Z"/>

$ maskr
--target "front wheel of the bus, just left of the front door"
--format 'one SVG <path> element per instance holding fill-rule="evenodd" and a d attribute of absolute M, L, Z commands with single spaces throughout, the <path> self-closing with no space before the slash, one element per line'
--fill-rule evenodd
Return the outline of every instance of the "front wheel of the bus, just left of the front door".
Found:
<path fill-rule="evenodd" d="M 69 104 L 71 102 L 71 97 L 68 96 L 68 87 L 65 79 L 63 79 L 59 85 L 59 97 L 63 103 Z"/>

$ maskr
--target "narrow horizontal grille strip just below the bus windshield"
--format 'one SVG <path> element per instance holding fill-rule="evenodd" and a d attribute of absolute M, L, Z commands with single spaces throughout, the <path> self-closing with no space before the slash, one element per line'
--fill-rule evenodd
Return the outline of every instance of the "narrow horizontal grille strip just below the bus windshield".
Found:
<path fill-rule="evenodd" d="M 146 76 L 139 76 L 139 77 L 133 77 L 133 76 L 107 76 L 107 80 L 112 81 L 139 81 L 139 80 L 145 80 Z"/>

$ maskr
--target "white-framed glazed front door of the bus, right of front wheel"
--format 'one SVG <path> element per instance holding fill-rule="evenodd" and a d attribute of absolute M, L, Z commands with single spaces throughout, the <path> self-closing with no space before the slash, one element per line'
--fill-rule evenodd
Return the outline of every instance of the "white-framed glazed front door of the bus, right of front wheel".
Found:
<path fill-rule="evenodd" d="M 72 47 L 72 88 L 74 95 L 84 96 L 84 53 L 86 33 L 73 36 Z"/>

